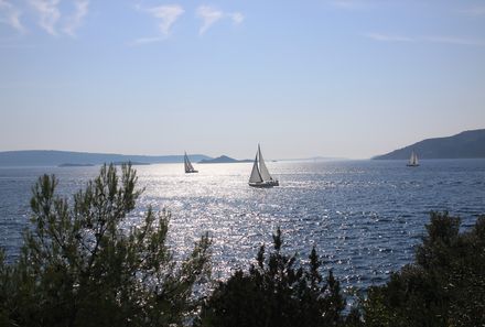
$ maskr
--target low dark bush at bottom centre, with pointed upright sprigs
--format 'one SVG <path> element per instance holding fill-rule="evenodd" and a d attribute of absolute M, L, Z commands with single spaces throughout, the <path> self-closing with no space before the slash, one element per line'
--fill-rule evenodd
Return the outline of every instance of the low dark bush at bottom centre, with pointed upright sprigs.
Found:
<path fill-rule="evenodd" d="M 259 249 L 257 263 L 247 273 L 238 270 L 219 282 L 203 305 L 200 326 L 341 326 L 345 301 L 332 271 L 325 282 L 321 261 L 312 250 L 308 269 L 297 266 L 297 255 L 281 251 L 280 229 L 273 250 Z"/>

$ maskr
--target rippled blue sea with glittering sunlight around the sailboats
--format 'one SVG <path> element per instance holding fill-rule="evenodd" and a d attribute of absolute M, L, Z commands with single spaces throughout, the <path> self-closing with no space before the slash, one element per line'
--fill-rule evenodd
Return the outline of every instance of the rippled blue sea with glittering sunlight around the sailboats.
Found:
<path fill-rule="evenodd" d="M 431 210 L 449 210 L 470 227 L 485 214 L 485 160 L 269 162 L 280 187 L 247 185 L 250 163 L 137 166 L 146 187 L 130 217 L 149 205 L 172 212 L 170 243 L 183 255 L 208 231 L 215 276 L 247 269 L 261 243 L 281 227 L 284 248 L 304 259 L 313 246 L 345 286 L 388 280 L 413 259 Z M 29 224 L 31 187 L 44 174 L 60 179 L 58 194 L 84 187 L 99 167 L 0 168 L 0 246 L 12 261 Z"/>

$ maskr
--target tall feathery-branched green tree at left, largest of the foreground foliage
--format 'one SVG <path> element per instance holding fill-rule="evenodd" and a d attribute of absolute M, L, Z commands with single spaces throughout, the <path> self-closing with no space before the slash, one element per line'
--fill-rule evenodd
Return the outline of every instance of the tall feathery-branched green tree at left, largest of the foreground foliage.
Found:
<path fill-rule="evenodd" d="M 121 170 L 103 166 L 72 201 L 55 195 L 54 176 L 39 178 L 20 260 L 7 265 L 0 252 L 1 326 L 169 326 L 194 313 L 208 237 L 176 264 L 168 211 L 149 208 L 129 227 L 141 192 L 131 166 Z"/>

